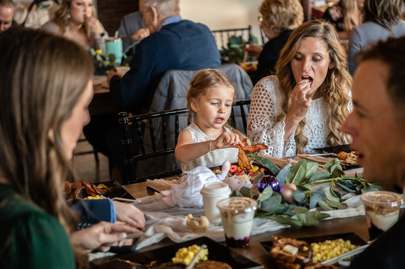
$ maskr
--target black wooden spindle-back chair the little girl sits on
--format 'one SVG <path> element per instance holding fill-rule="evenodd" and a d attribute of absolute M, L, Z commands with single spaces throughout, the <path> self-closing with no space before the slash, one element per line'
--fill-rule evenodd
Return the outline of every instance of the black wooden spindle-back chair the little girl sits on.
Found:
<path fill-rule="evenodd" d="M 244 130 L 245 133 L 250 103 L 251 100 L 235 101 L 230 114 L 230 125 L 233 128 L 243 125 L 243 129 L 238 129 Z M 149 176 L 136 177 L 138 162 L 152 158 L 154 158 L 154 162 L 160 162 L 160 157 L 175 153 L 179 132 L 190 123 L 189 109 L 172 109 L 138 116 L 128 116 L 126 112 L 121 112 L 119 114 L 119 125 L 124 146 L 124 184 L 139 183 L 147 179 L 152 180 L 182 174 L 182 169 L 173 169 Z M 131 128 L 129 127 L 131 124 L 135 125 L 135 137 L 133 134 L 131 135 Z M 144 132 L 142 125 L 145 124 L 146 128 Z M 140 153 L 138 155 L 133 154 L 133 139 L 138 139 L 139 142 Z M 145 146 L 145 142 L 152 144 L 150 151 L 148 151 L 148 148 L 151 147 Z M 167 161 L 175 162 L 174 158 L 170 158 Z M 173 167 L 175 167 L 175 164 L 173 164 Z"/>

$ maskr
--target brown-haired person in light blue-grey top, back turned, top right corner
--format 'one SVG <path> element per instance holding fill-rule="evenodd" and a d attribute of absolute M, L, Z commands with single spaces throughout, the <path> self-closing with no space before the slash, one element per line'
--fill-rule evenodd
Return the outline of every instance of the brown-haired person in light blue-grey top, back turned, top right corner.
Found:
<path fill-rule="evenodd" d="M 364 21 L 351 33 L 348 45 L 348 68 L 351 75 L 356 69 L 355 56 L 368 43 L 405 35 L 405 22 L 402 20 L 402 0 L 366 0 Z"/>

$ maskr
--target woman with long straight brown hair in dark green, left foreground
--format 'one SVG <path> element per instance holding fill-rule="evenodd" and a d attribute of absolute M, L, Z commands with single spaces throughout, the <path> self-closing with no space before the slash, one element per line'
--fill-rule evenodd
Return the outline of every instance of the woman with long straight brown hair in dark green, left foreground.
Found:
<path fill-rule="evenodd" d="M 73 232 L 62 194 L 89 122 L 93 64 L 76 43 L 19 27 L 0 34 L 0 51 L 0 268 L 75 268 L 73 253 L 139 232 L 108 222 Z"/>

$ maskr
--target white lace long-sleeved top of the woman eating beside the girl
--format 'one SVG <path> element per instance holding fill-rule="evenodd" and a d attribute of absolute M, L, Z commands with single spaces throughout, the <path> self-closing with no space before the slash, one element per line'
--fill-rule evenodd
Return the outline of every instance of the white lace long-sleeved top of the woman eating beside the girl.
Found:
<path fill-rule="evenodd" d="M 251 143 L 267 145 L 269 149 L 261 151 L 261 153 L 277 158 L 297 154 L 294 139 L 295 131 L 284 144 L 284 118 L 277 122 L 277 116 L 281 113 L 282 102 L 277 77 L 265 77 L 253 89 L 247 123 L 247 137 L 251 139 Z M 327 146 L 326 138 L 330 129 L 324 123 L 326 116 L 327 107 L 323 98 L 312 100 L 306 116 L 307 125 L 304 127 L 304 134 L 308 137 L 308 144 L 304 148 L 306 153 L 311 153 L 311 148 Z"/>

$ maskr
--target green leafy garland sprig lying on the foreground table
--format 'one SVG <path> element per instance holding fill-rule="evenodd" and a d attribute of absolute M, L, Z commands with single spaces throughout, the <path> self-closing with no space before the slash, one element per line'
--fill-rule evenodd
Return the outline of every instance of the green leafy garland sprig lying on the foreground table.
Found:
<path fill-rule="evenodd" d="M 242 187 L 240 192 L 234 192 L 233 195 L 256 197 L 258 201 L 256 217 L 275 220 L 295 228 L 317 226 L 320 220 L 330 217 L 327 213 L 310 211 L 316 206 L 320 206 L 323 210 L 347 208 L 347 204 L 341 200 L 341 193 L 337 190 L 337 186 L 343 188 L 346 192 L 355 194 L 381 190 L 380 185 L 370 184 L 357 175 L 355 177 L 346 177 L 337 158 L 325 164 L 323 172 L 317 173 L 316 170 L 319 165 L 317 162 L 307 162 L 307 160 L 303 159 L 293 166 L 287 164 L 286 167 L 280 170 L 274 162 L 265 157 L 252 154 L 248 156 L 253 157 L 264 167 L 267 167 L 276 176 L 280 187 L 286 183 L 293 183 L 297 187 L 293 194 L 295 203 L 283 201 L 281 194 L 274 191 L 272 187 L 266 187 L 259 195 L 254 189 Z M 253 185 L 257 184 L 263 176 L 264 174 L 258 174 L 253 180 Z M 330 183 L 330 185 L 323 189 L 311 190 L 311 186 L 321 183 Z"/>

